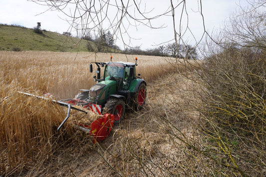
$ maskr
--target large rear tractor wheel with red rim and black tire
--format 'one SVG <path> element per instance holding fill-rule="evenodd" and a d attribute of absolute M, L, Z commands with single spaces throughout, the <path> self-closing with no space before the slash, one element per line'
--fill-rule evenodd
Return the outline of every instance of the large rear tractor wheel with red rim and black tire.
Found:
<path fill-rule="evenodd" d="M 146 84 L 142 82 L 139 85 L 137 92 L 135 93 L 134 104 L 133 104 L 134 110 L 139 111 L 142 108 L 144 108 L 146 101 L 146 94 L 147 94 Z"/>

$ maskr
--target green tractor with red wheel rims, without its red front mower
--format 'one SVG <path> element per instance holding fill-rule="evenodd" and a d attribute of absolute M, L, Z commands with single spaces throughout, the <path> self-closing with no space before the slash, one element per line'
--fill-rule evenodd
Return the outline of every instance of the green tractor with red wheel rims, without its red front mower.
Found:
<path fill-rule="evenodd" d="M 112 59 L 112 57 L 111 57 Z M 140 110 L 146 99 L 146 82 L 136 76 L 137 58 L 130 62 L 92 62 L 97 65 L 97 81 L 89 90 L 82 89 L 75 99 L 68 103 L 83 105 L 98 114 L 114 115 L 114 123 L 118 124 L 124 117 L 126 109 Z M 104 74 L 101 77 L 101 67 Z M 90 72 L 92 72 L 90 64 Z"/>

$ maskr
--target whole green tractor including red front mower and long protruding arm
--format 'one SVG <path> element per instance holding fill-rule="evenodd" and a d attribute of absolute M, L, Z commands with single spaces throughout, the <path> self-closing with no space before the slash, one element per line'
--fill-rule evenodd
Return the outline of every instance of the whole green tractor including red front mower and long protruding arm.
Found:
<path fill-rule="evenodd" d="M 135 63 L 129 62 L 93 62 L 97 65 L 97 77 L 94 80 L 98 83 L 89 90 L 82 89 L 81 93 L 74 99 L 52 100 L 50 94 L 37 96 L 30 93 L 19 92 L 27 96 L 49 100 L 68 108 L 67 115 L 57 128 L 57 131 L 68 120 L 70 110 L 76 110 L 87 114 L 84 109 L 79 109 L 73 105 L 81 105 L 83 108 L 102 114 L 92 122 L 85 124 L 74 122 L 79 130 L 93 135 L 93 143 L 104 140 L 112 131 L 113 124 L 120 123 L 124 117 L 126 109 L 140 110 L 143 108 L 146 99 L 146 82 L 138 74 L 136 76 L 137 58 Z M 101 77 L 101 68 L 104 67 L 104 74 Z M 90 64 L 92 72 L 92 64 Z"/>

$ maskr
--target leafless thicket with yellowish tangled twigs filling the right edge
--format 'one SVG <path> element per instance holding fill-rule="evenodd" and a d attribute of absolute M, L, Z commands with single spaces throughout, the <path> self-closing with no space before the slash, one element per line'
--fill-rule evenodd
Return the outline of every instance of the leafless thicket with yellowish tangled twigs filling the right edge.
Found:
<path fill-rule="evenodd" d="M 203 133 L 216 149 L 209 156 L 243 177 L 265 176 L 266 168 L 266 1 L 253 2 L 208 39 L 200 74 Z"/>

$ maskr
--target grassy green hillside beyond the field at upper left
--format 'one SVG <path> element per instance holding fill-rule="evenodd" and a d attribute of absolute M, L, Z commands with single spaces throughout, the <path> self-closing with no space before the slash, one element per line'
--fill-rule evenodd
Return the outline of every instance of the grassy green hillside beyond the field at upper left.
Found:
<path fill-rule="evenodd" d="M 65 36 L 56 32 L 42 31 L 35 33 L 32 28 L 0 24 L 0 51 L 1 50 L 39 50 L 39 51 L 89 51 L 97 48 L 92 41 Z M 101 52 L 110 51 L 105 47 Z M 114 49 L 112 49 L 114 50 Z M 115 51 L 112 51 L 115 52 Z"/>

